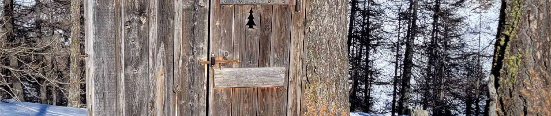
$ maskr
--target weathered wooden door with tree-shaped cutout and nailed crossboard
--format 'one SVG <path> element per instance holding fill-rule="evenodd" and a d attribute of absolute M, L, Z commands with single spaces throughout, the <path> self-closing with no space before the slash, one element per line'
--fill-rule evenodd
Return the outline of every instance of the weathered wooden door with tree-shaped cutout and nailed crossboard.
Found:
<path fill-rule="evenodd" d="M 286 115 L 294 5 L 228 1 L 211 1 L 209 54 L 240 62 L 209 67 L 208 114 Z"/>

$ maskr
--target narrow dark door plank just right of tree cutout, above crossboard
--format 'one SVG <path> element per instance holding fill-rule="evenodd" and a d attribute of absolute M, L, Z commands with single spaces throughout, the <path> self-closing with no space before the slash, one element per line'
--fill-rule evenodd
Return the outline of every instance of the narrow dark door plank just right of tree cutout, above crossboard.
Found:
<path fill-rule="evenodd" d="M 273 5 L 262 5 L 260 22 L 260 48 L 258 52 L 258 67 L 268 67 L 270 60 L 270 41 L 272 38 L 272 11 Z"/>

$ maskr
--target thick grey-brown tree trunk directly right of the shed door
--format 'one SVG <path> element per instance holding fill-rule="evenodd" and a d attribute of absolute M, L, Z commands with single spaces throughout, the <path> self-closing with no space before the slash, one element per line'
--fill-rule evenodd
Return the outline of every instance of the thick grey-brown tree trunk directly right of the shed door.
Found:
<path fill-rule="evenodd" d="M 306 10 L 306 76 L 302 113 L 349 115 L 348 0 L 311 0 Z M 331 55 L 332 57 L 327 57 Z"/>

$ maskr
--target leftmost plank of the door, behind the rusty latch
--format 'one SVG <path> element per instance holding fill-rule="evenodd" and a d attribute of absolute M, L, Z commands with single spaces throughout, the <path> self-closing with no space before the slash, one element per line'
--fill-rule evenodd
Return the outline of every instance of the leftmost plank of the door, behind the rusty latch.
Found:
<path fill-rule="evenodd" d="M 218 58 L 233 59 L 234 5 L 220 5 L 212 0 L 210 13 L 210 54 Z M 221 60 L 221 59 L 218 59 Z M 231 89 L 214 89 L 214 68 L 231 68 L 224 63 L 211 67 L 209 72 L 209 115 L 231 115 Z"/>

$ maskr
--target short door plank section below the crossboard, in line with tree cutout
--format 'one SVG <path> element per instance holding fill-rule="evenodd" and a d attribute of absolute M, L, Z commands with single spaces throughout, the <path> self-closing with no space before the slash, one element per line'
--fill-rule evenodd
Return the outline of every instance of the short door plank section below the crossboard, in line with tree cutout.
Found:
<path fill-rule="evenodd" d="M 256 115 L 257 87 L 233 88 L 231 115 Z"/>

